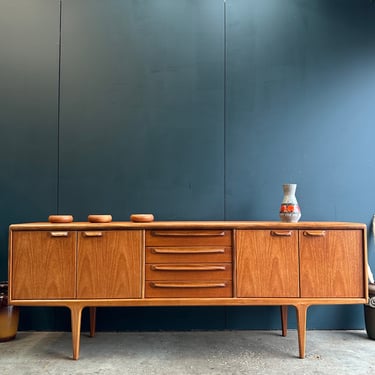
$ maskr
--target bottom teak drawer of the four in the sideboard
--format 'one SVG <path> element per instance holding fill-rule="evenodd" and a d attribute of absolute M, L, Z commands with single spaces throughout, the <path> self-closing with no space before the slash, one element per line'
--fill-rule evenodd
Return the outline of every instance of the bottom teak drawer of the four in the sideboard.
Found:
<path fill-rule="evenodd" d="M 231 281 L 146 281 L 146 298 L 229 298 Z"/>

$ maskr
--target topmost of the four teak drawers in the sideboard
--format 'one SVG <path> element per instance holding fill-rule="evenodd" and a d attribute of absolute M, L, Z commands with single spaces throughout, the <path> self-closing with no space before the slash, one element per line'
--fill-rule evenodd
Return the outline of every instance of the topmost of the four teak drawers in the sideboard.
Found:
<path fill-rule="evenodd" d="M 146 246 L 232 246 L 230 230 L 147 230 Z"/>

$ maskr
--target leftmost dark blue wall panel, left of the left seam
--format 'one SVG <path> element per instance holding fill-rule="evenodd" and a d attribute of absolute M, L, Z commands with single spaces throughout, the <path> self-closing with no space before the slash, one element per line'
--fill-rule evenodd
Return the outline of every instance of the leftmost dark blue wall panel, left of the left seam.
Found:
<path fill-rule="evenodd" d="M 0 2 L 0 279 L 8 226 L 57 209 L 58 1 Z"/>

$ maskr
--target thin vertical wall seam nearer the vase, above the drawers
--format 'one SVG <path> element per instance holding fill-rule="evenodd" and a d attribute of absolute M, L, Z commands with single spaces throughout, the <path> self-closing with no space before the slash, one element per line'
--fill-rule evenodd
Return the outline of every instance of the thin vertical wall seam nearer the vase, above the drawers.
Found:
<path fill-rule="evenodd" d="M 224 220 L 227 219 L 227 201 L 226 201 L 226 193 L 227 193 L 227 8 L 226 8 L 226 0 L 224 0 L 223 4 L 224 14 L 223 14 L 223 23 L 224 23 L 224 46 L 223 46 L 223 53 L 224 53 L 224 66 L 223 66 L 223 116 L 224 116 L 224 197 L 223 197 L 223 206 L 224 206 Z"/>

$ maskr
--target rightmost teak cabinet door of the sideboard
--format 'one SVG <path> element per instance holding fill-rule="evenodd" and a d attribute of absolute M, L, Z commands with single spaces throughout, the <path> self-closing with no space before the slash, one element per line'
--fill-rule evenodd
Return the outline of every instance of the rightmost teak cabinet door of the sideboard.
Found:
<path fill-rule="evenodd" d="M 364 297 L 361 230 L 300 231 L 301 297 Z"/>

